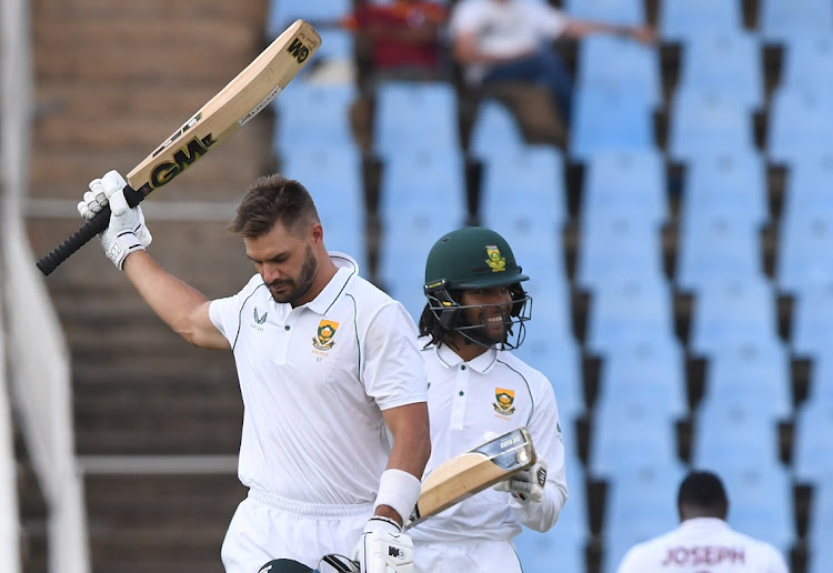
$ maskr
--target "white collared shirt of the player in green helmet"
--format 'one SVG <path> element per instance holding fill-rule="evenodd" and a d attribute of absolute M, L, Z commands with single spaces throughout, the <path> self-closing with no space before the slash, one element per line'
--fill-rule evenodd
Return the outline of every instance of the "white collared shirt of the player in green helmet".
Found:
<path fill-rule="evenodd" d="M 426 339 L 420 339 L 424 346 Z M 442 462 L 484 441 L 525 426 L 549 470 L 541 503 L 521 505 L 491 487 L 409 530 L 414 543 L 454 539 L 509 540 L 521 524 L 546 531 L 566 501 L 564 444 L 550 381 L 505 351 L 488 350 L 464 362 L 445 345 L 422 350 L 428 370 L 431 458 L 428 474 Z M 418 550 L 419 551 L 419 550 Z"/>

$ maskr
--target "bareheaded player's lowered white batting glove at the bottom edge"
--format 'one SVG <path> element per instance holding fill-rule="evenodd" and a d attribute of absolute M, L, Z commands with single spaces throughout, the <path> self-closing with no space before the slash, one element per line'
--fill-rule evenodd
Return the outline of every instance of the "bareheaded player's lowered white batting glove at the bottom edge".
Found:
<path fill-rule="evenodd" d="M 364 527 L 353 560 L 361 573 L 411 573 L 413 541 L 395 521 L 375 515 Z"/>

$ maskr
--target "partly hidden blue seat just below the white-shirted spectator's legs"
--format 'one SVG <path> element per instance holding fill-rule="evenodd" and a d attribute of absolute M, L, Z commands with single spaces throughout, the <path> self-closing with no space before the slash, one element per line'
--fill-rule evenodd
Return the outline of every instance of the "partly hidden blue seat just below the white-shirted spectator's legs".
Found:
<path fill-rule="evenodd" d="M 503 103 L 488 99 L 481 102 L 472 124 L 469 151 L 481 160 L 525 149 L 518 120 Z"/>

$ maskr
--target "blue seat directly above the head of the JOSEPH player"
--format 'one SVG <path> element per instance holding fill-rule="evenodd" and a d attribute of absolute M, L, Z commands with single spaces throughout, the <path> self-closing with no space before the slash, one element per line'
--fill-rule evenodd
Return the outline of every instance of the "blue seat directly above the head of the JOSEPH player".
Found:
<path fill-rule="evenodd" d="M 691 445 L 694 468 L 722 472 L 780 463 L 777 423 L 767 412 L 757 410 L 756 404 L 702 404 L 694 416 Z"/>

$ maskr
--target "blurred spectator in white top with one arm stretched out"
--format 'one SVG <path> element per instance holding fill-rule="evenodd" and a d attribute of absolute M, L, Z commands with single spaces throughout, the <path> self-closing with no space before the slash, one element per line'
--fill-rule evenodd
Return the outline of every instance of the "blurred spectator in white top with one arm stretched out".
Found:
<path fill-rule="evenodd" d="M 470 87 L 504 81 L 542 86 L 564 123 L 570 121 L 572 78 L 553 40 L 594 32 L 644 43 L 654 39 L 650 28 L 576 20 L 536 0 L 461 0 L 451 16 L 452 52 Z"/>

